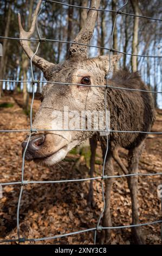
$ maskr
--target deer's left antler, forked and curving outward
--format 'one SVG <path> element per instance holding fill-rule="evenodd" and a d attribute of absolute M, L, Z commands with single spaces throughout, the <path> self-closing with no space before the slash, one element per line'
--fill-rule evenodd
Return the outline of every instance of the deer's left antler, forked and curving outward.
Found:
<path fill-rule="evenodd" d="M 25 51 L 25 53 L 27 54 L 27 56 L 30 59 L 34 55 L 34 52 L 31 50 L 31 48 L 29 46 L 29 41 L 21 40 L 21 38 L 22 39 L 30 39 L 31 36 L 34 34 L 35 26 L 36 26 L 36 19 L 37 19 L 38 11 L 40 10 L 41 3 L 42 3 L 42 1 L 40 0 L 37 4 L 37 7 L 36 7 L 36 9 L 34 11 L 34 15 L 33 15 L 33 21 L 31 23 L 31 27 L 28 32 L 24 31 L 24 29 L 22 27 L 22 23 L 21 23 L 21 16 L 20 16 L 20 14 L 18 14 L 18 25 L 19 25 L 19 29 L 20 29 L 20 43 L 21 43 L 23 50 Z M 37 68 L 41 69 L 43 71 L 43 73 L 44 72 L 46 73 L 49 68 L 51 68 L 52 66 L 55 65 L 53 63 L 48 62 L 46 59 L 38 57 L 37 55 L 35 55 L 32 60 L 33 60 L 34 65 L 37 66 Z M 46 77 L 48 77 L 48 75 Z"/>

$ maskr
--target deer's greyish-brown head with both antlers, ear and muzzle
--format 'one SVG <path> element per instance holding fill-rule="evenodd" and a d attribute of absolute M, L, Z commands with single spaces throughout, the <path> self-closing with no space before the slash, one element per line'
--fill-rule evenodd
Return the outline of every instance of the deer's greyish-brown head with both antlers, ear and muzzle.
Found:
<path fill-rule="evenodd" d="M 21 40 L 21 38 L 29 39 L 33 35 L 41 2 L 39 1 L 37 4 L 29 32 L 24 31 L 21 25 L 21 17 L 18 16 L 20 42 L 29 58 L 34 53 L 28 41 Z M 99 6 L 100 0 L 92 0 L 90 3 L 90 8 L 99 9 Z M 89 44 L 97 16 L 98 11 L 88 11 L 85 26 L 76 36 L 75 43 Z M 112 67 L 116 62 L 118 62 L 118 56 L 111 57 Z M 87 46 L 72 44 L 69 48 L 68 59 L 63 63 L 55 65 L 35 55 L 33 64 L 43 71 L 47 81 L 55 82 L 48 83 L 43 88 L 42 103 L 36 113 L 33 128 L 37 130 L 61 130 L 62 117 L 58 119 L 58 111 L 64 112 L 64 114 L 66 111 L 68 113 L 89 111 L 90 113 L 104 109 L 105 88 L 100 87 L 100 85 L 105 84 L 105 75 L 109 70 L 108 56 L 87 58 Z M 70 83 L 74 85 L 68 85 Z M 89 87 L 90 85 L 94 87 Z M 68 118 L 70 122 L 72 116 L 68 116 Z M 68 130 L 68 127 L 66 129 Z M 96 131 L 45 131 L 34 133 L 30 137 L 25 159 L 50 166 L 61 161 L 69 150 L 81 144 L 88 137 L 93 136 L 94 133 Z M 27 141 L 28 139 L 22 143 L 23 150 Z"/>

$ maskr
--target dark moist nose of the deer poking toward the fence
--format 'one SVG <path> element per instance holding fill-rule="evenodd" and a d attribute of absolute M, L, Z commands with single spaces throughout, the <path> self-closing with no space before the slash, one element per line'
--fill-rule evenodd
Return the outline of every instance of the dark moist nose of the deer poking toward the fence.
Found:
<path fill-rule="evenodd" d="M 36 158 L 39 154 L 41 145 L 44 143 L 45 135 L 39 134 L 39 135 L 33 135 L 30 138 L 30 141 L 28 143 L 28 138 L 22 142 L 22 155 L 24 154 L 25 148 L 28 147 L 25 152 L 25 159 L 30 161 Z"/>

